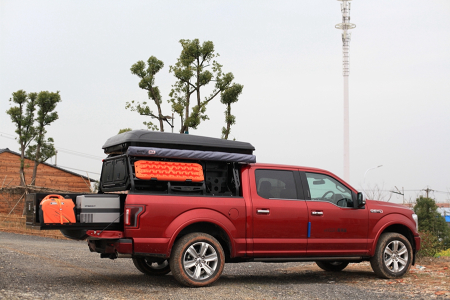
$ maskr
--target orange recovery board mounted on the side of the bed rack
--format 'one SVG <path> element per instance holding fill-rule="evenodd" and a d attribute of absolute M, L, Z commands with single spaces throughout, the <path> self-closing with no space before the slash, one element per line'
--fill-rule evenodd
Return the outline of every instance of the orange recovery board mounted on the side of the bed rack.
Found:
<path fill-rule="evenodd" d="M 138 160 L 134 162 L 134 171 L 137 178 L 146 180 L 192 180 L 192 182 L 204 180 L 202 166 L 193 162 Z"/>

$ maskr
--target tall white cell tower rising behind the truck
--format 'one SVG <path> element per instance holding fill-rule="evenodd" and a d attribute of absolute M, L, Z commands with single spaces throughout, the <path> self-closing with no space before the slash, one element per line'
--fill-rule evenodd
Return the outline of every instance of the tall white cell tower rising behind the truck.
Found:
<path fill-rule="evenodd" d="M 350 75 L 350 38 L 348 30 L 356 27 L 350 23 L 350 1 L 341 1 L 342 23 L 335 27 L 342 30 L 342 75 L 344 76 L 344 180 L 350 180 L 350 133 L 349 133 L 349 75 Z"/>

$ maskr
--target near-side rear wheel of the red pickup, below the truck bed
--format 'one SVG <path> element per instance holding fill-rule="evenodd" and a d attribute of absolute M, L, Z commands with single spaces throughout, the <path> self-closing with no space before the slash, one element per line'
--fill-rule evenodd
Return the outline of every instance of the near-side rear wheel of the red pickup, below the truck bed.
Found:
<path fill-rule="evenodd" d="M 173 276 L 186 286 L 209 285 L 219 279 L 225 254 L 213 236 L 196 232 L 177 240 L 170 255 Z"/>

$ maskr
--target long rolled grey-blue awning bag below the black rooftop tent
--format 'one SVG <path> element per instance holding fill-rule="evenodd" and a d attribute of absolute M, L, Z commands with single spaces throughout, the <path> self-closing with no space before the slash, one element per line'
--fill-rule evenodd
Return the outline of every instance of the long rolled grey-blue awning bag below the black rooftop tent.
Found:
<path fill-rule="evenodd" d="M 141 157 L 167 157 L 247 163 L 256 162 L 256 156 L 253 154 L 227 153 L 219 151 L 180 150 L 155 147 L 130 146 L 127 149 L 127 154 L 130 156 Z"/>

